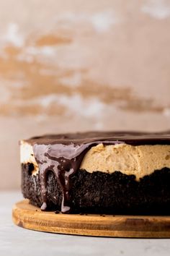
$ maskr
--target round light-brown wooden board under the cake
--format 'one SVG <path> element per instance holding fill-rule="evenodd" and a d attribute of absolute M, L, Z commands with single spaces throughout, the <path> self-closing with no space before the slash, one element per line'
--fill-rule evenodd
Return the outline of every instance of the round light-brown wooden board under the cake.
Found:
<path fill-rule="evenodd" d="M 22 200 L 12 218 L 24 229 L 60 234 L 112 237 L 170 238 L 170 216 L 100 216 L 42 212 Z"/>

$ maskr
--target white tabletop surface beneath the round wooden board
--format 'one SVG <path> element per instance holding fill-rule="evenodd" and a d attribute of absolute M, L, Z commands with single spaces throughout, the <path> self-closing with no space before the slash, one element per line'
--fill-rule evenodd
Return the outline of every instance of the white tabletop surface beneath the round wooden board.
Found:
<path fill-rule="evenodd" d="M 0 255 L 170 255 L 169 239 L 117 239 L 68 236 L 30 231 L 14 226 L 12 205 L 20 192 L 0 192 Z"/>

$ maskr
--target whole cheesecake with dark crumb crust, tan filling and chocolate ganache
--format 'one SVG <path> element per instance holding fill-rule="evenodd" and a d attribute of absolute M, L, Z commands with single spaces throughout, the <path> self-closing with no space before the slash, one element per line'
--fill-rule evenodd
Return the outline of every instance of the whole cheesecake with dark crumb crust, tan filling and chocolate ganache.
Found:
<path fill-rule="evenodd" d="M 22 193 L 62 213 L 170 213 L 170 134 L 84 132 L 20 142 Z"/>

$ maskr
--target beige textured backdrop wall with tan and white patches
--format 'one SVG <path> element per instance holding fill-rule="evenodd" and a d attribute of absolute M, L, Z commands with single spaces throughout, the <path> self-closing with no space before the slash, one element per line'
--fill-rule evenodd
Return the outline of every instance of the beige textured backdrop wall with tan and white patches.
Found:
<path fill-rule="evenodd" d="M 0 189 L 18 140 L 170 128 L 170 1 L 0 1 Z"/>

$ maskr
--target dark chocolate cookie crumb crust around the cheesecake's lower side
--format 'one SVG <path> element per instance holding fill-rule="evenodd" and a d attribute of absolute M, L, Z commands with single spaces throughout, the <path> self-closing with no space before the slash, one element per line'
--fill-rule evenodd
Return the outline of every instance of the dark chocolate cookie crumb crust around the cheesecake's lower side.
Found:
<path fill-rule="evenodd" d="M 40 174 L 31 175 L 32 166 L 22 164 L 22 193 L 33 205 L 42 205 Z M 170 169 L 144 176 L 140 182 L 120 171 L 89 174 L 78 170 L 71 177 L 72 213 L 167 215 L 170 213 Z M 102 189 L 101 189 L 102 188 Z M 52 171 L 48 173 L 48 209 L 61 210 L 62 190 Z"/>

